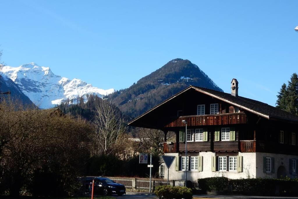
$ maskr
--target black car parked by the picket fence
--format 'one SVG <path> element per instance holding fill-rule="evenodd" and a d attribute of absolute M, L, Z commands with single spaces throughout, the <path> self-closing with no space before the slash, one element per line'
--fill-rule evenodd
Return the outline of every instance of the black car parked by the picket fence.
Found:
<path fill-rule="evenodd" d="M 126 193 L 123 184 L 115 183 L 109 178 L 93 178 L 94 179 L 94 195 L 110 195 L 117 194 L 123 195 Z M 92 181 L 89 184 L 89 193 L 92 193 Z"/>

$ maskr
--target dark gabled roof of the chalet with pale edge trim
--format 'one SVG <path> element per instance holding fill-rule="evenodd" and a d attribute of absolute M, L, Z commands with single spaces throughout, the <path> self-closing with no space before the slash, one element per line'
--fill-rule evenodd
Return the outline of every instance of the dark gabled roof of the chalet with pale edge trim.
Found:
<path fill-rule="evenodd" d="M 293 115 L 289 112 L 286 112 L 284 110 L 281 110 L 279 108 L 270 106 L 269 104 L 256 101 L 253 99 L 249 98 L 244 98 L 241 96 L 233 96 L 230 93 L 225 93 L 225 92 L 220 92 L 216 90 L 211 90 L 207 88 L 202 88 L 202 87 L 195 87 L 195 86 L 190 86 L 187 87 L 186 89 L 182 90 L 181 92 L 177 93 L 176 95 L 173 95 L 172 97 L 168 98 L 167 100 L 163 101 L 162 103 L 158 104 L 157 106 L 153 107 L 152 109 L 148 110 L 147 112 L 143 113 L 139 117 L 135 118 L 134 120 L 130 121 L 128 125 L 132 125 L 133 123 L 141 118 L 142 116 L 150 113 L 152 110 L 158 108 L 159 106 L 162 106 L 162 104 L 166 103 L 167 101 L 170 101 L 171 99 L 177 97 L 181 93 L 189 90 L 189 89 L 195 89 L 198 92 L 204 93 L 206 95 L 212 96 L 214 98 L 217 98 L 219 100 L 225 101 L 229 104 L 235 105 L 237 107 L 240 107 L 244 110 L 247 110 L 249 112 L 252 112 L 254 114 L 260 115 L 264 118 L 267 119 L 281 119 L 281 120 L 288 120 L 288 121 L 295 121 L 298 122 L 298 117 L 296 115 Z"/>

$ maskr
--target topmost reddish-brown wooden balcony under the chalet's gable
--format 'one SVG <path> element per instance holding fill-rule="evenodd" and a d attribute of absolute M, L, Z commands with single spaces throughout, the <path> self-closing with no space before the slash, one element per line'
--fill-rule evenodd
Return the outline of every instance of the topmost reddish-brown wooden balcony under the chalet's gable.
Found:
<path fill-rule="evenodd" d="M 184 127 L 182 120 L 187 121 L 187 126 L 224 125 L 224 124 L 246 124 L 247 118 L 244 112 L 224 113 L 216 115 L 190 115 L 180 116 L 165 127 Z"/>

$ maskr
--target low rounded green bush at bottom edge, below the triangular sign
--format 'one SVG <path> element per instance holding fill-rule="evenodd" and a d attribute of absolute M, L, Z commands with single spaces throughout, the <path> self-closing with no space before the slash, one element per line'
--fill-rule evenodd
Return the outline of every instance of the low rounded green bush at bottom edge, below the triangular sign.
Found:
<path fill-rule="evenodd" d="M 170 185 L 158 186 L 155 188 L 154 192 L 159 198 L 163 197 L 164 199 L 193 198 L 192 190 L 184 186 L 170 186 Z"/>

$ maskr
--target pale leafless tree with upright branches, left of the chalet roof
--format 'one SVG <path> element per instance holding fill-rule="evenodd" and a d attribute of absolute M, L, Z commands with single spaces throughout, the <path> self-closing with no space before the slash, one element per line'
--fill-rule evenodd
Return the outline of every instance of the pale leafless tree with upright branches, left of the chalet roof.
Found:
<path fill-rule="evenodd" d="M 93 119 L 97 144 L 105 155 L 113 154 L 126 130 L 125 119 L 121 111 L 108 100 L 97 104 Z"/>

